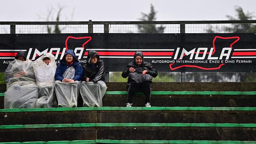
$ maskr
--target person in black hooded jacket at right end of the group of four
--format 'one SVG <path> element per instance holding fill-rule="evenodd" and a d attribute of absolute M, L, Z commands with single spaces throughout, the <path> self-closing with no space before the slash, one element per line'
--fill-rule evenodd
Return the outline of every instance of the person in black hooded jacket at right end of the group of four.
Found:
<path fill-rule="evenodd" d="M 90 50 L 87 62 L 83 66 L 83 77 L 80 94 L 83 106 L 102 106 L 102 98 L 106 92 L 104 62 L 94 50 Z"/>

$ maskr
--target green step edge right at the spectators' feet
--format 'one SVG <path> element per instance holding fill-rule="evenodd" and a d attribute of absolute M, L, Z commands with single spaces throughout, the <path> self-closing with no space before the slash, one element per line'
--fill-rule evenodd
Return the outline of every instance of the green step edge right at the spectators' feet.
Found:
<path fill-rule="evenodd" d="M 48 112 L 48 111 L 80 111 L 80 110 L 225 110 L 254 111 L 256 107 L 81 107 L 81 108 L 17 108 L 0 109 L 0 112 Z"/>

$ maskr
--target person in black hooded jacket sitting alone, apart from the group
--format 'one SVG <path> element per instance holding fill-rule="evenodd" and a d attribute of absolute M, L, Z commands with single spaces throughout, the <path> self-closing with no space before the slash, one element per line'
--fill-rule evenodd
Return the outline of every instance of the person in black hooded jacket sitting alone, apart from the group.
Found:
<path fill-rule="evenodd" d="M 134 61 L 130 62 L 124 71 L 122 72 L 122 77 L 127 78 L 130 73 L 138 73 L 139 75 L 141 74 L 144 76 L 145 74 L 149 74 L 152 77 L 156 77 L 158 75 L 156 69 L 151 65 L 150 62 L 145 62 L 144 61 L 144 56 L 142 52 L 135 52 L 134 54 Z M 141 77 L 142 78 L 142 77 Z M 150 96 L 151 96 L 151 82 L 141 82 L 141 83 L 136 83 L 130 76 L 128 77 L 128 96 L 126 100 L 126 107 L 131 107 L 132 105 L 132 96 L 138 92 L 144 92 L 146 99 L 145 99 L 145 106 L 150 107 L 151 106 L 151 101 L 150 101 Z"/>

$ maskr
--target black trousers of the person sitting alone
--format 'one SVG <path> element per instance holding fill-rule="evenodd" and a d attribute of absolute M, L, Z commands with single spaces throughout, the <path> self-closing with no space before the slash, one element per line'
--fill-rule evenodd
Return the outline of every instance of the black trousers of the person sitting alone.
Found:
<path fill-rule="evenodd" d="M 136 84 L 135 82 L 131 82 L 130 84 L 127 85 L 127 89 L 128 89 L 128 96 L 127 96 L 127 100 L 126 103 L 132 103 L 132 96 L 134 96 L 134 94 L 136 92 L 144 92 L 146 99 L 145 99 L 145 103 L 150 101 L 150 97 L 151 97 L 151 83 L 150 82 L 144 82 L 144 83 L 140 83 L 140 84 Z"/>

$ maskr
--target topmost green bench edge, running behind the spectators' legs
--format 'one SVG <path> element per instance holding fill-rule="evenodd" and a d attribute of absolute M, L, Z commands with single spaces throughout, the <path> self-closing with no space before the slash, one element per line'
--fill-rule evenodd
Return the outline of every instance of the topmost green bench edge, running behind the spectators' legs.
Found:
<path fill-rule="evenodd" d="M 126 91 L 106 91 L 105 94 L 108 95 L 126 95 L 128 92 Z M 142 92 L 137 92 L 137 95 L 143 95 Z M 215 92 L 215 91 L 202 91 L 202 92 L 194 92 L 194 91 L 152 91 L 152 95 L 256 95 L 256 91 L 252 92 Z M 4 93 L 0 93 L 0 96 L 4 96 Z"/>

